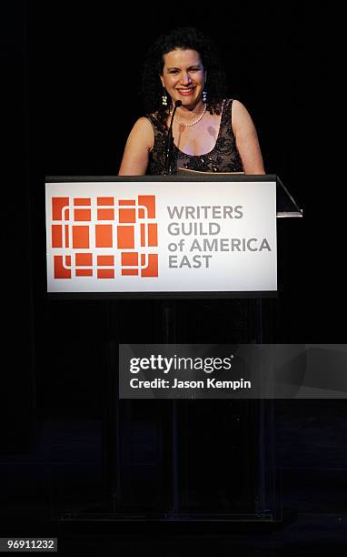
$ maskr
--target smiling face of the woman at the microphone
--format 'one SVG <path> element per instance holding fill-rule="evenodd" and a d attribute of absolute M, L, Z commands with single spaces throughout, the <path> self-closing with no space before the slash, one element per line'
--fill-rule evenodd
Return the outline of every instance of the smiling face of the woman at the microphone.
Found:
<path fill-rule="evenodd" d="M 177 48 L 164 55 L 163 86 L 173 100 L 186 108 L 196 106 L 203 95 L 206 75 L 196 50 Z"/>

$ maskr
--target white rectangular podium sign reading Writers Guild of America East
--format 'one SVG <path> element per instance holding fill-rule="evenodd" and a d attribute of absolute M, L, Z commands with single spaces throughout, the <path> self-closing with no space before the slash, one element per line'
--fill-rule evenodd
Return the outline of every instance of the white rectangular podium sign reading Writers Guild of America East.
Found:
<path fill-rule="evenodd" d="M 47 182 L 48 292 L 277 289 L 276 181 Z"/>

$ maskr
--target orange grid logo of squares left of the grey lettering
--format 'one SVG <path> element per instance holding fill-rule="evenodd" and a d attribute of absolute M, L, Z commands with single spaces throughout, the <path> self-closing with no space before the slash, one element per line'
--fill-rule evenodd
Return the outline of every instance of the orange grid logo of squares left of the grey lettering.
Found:
<path fill-rule="evenodd" d="M 52 197 L 55 279 L 158 277 L 155 196 Z"/>

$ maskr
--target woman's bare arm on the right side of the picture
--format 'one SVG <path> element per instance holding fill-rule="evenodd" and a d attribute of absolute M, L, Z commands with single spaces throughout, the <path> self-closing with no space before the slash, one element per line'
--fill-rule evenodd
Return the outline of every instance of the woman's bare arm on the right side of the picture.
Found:
<path fill-rule="evenodd" d="M 233 101 L 233 133 L 243 161 L 244 174 L 265 174 L 262 151 L 251 116 L 237 100 Z"/>

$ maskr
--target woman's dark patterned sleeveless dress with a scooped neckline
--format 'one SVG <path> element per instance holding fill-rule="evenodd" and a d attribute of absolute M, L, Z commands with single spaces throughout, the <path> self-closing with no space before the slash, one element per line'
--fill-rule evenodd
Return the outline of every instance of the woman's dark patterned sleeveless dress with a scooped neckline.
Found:
<path fill-rule="evenodd" d="M 173 145 L 173 174 L 177 168 L 189 168 L 200 172 L 243 172 L 243 163 L 236 147 L 232 127 L 233 99 L 223 101 L 222 118 L 217 141 L 209 153 L 186 155 Z M 154 148 L 150 154 L 147 174 L 163 175 L 167 130 L 163 130 L 155 115 L 146 116 L 154 128 Z"/>

